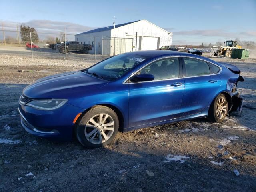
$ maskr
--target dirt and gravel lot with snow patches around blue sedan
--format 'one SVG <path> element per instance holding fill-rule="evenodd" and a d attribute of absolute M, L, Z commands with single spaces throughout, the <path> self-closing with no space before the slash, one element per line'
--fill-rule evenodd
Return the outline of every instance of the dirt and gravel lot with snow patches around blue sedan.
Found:
<path fill-rule="evenodd" d="M 242 70 L 242 114 L 234 112 L 223 123 L 201 118 L 118 133 L 112 144 L 89 150 L 76 140 L 28 134 L 17 102 L 36 79 L 95 61 L 0 55 L 0 191 L 255 192 L 256 59 L 214 60 Z"/>

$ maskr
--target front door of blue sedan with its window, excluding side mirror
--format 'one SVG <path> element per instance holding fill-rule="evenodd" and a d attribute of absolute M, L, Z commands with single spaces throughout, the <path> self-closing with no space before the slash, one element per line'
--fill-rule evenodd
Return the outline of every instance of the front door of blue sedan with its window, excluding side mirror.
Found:
<path fill-rule="evenodd" d="M 178 118 L 184 93 L 180 57 L 160 59 L 136 74 L 148 73 L 149 82 L 129 82 L 129 127 Z"/>

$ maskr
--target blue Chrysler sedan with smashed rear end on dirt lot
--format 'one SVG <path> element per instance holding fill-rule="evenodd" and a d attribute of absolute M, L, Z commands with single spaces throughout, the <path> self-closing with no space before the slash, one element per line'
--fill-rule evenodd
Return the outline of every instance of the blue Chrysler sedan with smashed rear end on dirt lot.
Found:
<path fill-rule="evenodd" d="M 37 80 L 24 88 L 21 124 L 36 136 L 88 148 L 109 144 L 118 130 L 208 117 L 222 122 L 242 110 L 233 65 L 164 50 L 119 54 L 87 69 Z"/>

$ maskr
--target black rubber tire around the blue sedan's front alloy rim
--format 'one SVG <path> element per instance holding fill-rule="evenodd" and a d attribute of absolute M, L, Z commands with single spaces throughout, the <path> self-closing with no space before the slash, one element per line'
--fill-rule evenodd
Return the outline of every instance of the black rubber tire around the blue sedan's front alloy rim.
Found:
<path fill-rule="evenodd" d="M 95 143 L 92 143 L 92 142 L 95 140 L 96 137 L 98 137 L 98 141 L 99 141 L 99 135 L 98 134 L 100 134 L 100 136 L 101 136 L 102 135 L 101 132 L 106 131 L 106 132 L 104 132 L 105 134 L 108 134 L 110 132 L 108 130 L 104 130 L 104 127 L 103 127 L 104 124 L 102 124 L 103 126 L 99 126 L 99 127 L 102 127 L 103 129 L 102 128 L 93 128 L 92 129 L 91 132 L 96 130 L 96 132 L 98 133 L 97 135 L 95 134 L 96 136 L 94 136 L 94 134 L 93 134 L 93 136 L 94 136 L 93 139 L 92 139 L 92 137 L 93 137 L 92 135 L 91 135 L 91 138 L 88 138 L 88 139 L 86 138 L 86 135 L 85 135 L 87 133 L 86 128 L 88 129 L 88 128 L 92 127 L 92 126 L 89 125 L 89 120 L 94 118 L 94 116 L 97 116 L 98 114 L 107 114 L 108 116 L 110 116 L 112 118 L 113 122 L 114 122 L 114 130 L 111 131 L 111 136 L 107 140 L 105 140 L 105 141 L 102 140 L 103 141 L 102 143 L 95 144 Z M 115 136 L 118 132 L 118 128 L 119 128 L 119 120 L 118 120 L 118 116 L 116 115 L 114 110 L 112 110 L 111 108 L 108 108 L 106 106 L 97 105 L 97 106 L 94 106 L 93 108 L 91 108 L 90 110 L 88 110 L 80 118 L 80 120 L 77 123 L 76 128 L 75 128 L 75 134 L 76 134 L 76 138 L 78 139 L 78 141 L 83 146 L 85 146 L 86 148 L 98 148 L 98 147 L 102 147 L 102 146 L 110 144 L 110 142 L 112 142 L 112 140 L 115 138 Z M 98 129 L 101 129 L 101 130 L 98 130 Z M 90 134 L 91 132 L 88 132 L 87 134 Z M 104 139 L 103 136 L 101 136 L 101 137 Z M 92 139 L 92 142 L 89 141 L 91 139 Z"/>

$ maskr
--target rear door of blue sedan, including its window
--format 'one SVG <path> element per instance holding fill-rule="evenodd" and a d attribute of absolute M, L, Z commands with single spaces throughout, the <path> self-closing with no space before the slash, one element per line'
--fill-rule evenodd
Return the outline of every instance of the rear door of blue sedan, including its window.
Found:
<path fill-rule="evenodd" d="M 201 59 L 182 57 L 184 72 L 184 96 L 180 117 L 202 112 L 214 99 L 221 85 L 218 73 Z"/>

